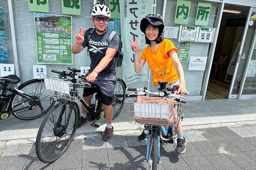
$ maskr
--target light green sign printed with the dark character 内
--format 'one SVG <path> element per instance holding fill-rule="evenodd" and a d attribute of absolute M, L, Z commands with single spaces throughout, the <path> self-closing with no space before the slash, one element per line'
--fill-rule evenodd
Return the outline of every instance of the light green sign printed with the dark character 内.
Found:
<path fill-rule="evenodd" d="M 175 24 L 188 24 L 191 1 L 178 0 L 175 12 Z"/>

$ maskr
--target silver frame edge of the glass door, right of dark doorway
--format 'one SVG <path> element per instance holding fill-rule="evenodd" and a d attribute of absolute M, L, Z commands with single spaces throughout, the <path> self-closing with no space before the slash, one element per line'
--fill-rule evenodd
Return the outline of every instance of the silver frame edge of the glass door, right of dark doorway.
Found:
<path fill-rule="evenodd" d="M 246 34 L 247 34 L 247 29 L 249 27 L 251 12 L 252 12 L 252 7 L 250 7 L 248 15 L 246 17 L 245 28 L 244 28 L 244 32 L 243 32 L 242 40 L 241 40 L 241 46 L 240 46 L 239 53 L 238 53 L 238 56 L 236 57 L 236 61 L 235 61 L 236 62 L 235 71 L 234 71 L 234 74 L 233 74 L 233 77 L 232 77 L 232 80 L 231 80 L 231 84 L 230 84 L 230 87 L 229 87 L 228 98 L 238 98 L 239 92 L 238 92 L 238 94 L 233 94 L 232 95 L 232 91 L 233 91 L 233 87 L 234 87 L 234 83 L 235 83 L 235 78 L 236 78 L 236 73 L 237 73 L 237 70 L 238 70 L 239 62 L 240 62 L 241 55 L 242 55 L 242 50 L 243 50 L 243 47 L 244 47 L 244 42 L 245 42 L 245 38 L 246 38 Z M 242 84 L 240 84 L 240 88 L 241 88 L 241 85 Z M 239 91 L 240 91 L 240 89 L 239 89 Z"/>

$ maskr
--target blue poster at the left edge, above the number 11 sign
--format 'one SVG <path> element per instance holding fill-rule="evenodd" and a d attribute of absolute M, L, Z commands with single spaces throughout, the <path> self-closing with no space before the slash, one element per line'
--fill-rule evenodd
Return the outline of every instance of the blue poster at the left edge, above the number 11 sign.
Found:
<path fill-rule="evenodd" d="M 0 63 L 8 64 L 8 53 L 4 28 L 4 13 L 0 7 Z"/>

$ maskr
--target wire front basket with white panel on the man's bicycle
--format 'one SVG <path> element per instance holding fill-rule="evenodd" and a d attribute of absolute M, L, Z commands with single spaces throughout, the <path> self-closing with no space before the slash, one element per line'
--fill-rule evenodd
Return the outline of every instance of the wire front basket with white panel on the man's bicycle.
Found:
<path fill-rule="evenodd" d="M 85 84 L 71 83 L 70 81 L 65 81 L 58 77 L 49 77 L 44 74 L 39 74 L 39 76 L 42 80 L 42 84 L 45 85 L 44 94 L 57 97 L 64 101 L 76 102 L 81 100 L 82 96 L 79 95 L 79 91 L 81 93 L 86 86 Z"/>

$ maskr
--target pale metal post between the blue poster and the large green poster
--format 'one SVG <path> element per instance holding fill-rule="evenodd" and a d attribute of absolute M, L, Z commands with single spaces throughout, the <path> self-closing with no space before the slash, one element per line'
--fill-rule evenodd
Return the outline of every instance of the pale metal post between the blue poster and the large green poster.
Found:
<path fill-rule="evenodd" d="M 15 29 L 15 14 L 12 6 L 12 0 L 8 0 L 8 8 L 9 8 L 9 15 L 10 15 L 10 25 L 11 25 L 11 35 L 12 35 L 12 47 L 14 51 L 14 64 L 15 64 L 15 72 L 18 77 L 21 76 L 20 74 L 20 64 L 18 62 L 18 48 L 17 48 L 17 36 L 16 36 L 16 29 Z M 21 78 L 21 77 L 20 77 Z M 22 81 L 22 78 L 21 78 Z M 18 83 L 17 86 L 21 84 Z"/>

